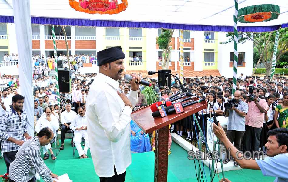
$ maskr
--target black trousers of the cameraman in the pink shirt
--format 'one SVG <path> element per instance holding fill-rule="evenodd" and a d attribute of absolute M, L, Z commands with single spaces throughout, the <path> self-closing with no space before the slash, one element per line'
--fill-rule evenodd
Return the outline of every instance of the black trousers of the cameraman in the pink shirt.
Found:
<path fill-rule="evenodd" d="M 262 128 L 254 128 L 245 125 L 245 133 L 243 137 L 244 152 L 250 151 L 253 154 L 253 151 L 259 150 L 261 130 Z"/>

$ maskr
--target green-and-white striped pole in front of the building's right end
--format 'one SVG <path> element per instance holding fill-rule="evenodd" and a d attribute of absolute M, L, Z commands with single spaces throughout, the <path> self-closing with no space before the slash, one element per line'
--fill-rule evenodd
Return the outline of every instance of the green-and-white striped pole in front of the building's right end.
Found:
<path fill-rule="evenodd" d="M 232 96 L 234 97 L 234 93 L 236 91 L 236 80 L 237 80 L 237 66 L 238 66 L 238 30 L 237 30 L 237 17 L 238 17 L 238 0 L 234 0 L 235 9 L 234 9 L 234 66 L 233 66 L 233 88 L 232 88 Z"/>

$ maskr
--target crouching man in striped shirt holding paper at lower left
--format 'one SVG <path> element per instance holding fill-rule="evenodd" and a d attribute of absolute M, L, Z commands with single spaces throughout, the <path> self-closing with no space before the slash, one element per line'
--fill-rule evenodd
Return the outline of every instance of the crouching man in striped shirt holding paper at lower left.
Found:
<path fill-rule="evenodd" d="M 40 154 L 40 146 L 46 146 L 53 138 L 53 131 L 46 127 L 21 146 L 16 159 L 10 164 L 10 182 L 36 182 L 36 172 L 45 182 L 55 182 L 53 178 L 57 179 L 58 175 L 48 169 Z"/>

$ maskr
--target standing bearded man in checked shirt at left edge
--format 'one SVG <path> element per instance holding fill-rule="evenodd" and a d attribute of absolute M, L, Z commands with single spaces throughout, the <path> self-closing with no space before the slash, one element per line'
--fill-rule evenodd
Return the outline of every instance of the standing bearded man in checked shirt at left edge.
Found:
<path fill-rule="evenodd" d="M 27 133 L 26 112 L 23 109 L 24 97 L 16 94 L 12 97 L 12 108 L 7 110 L 0 118 L 1 150 L 9 172 L 10 163 L 15 160 L 15 155 L 20 146 L 31 136 Z M 24 138 L 25 137 L 25 138 Z"/>

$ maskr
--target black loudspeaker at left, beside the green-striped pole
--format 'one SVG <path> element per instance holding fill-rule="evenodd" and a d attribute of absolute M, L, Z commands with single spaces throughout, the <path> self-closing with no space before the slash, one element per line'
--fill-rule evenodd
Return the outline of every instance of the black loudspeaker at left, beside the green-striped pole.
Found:
<path fill-rule="evenodd" d="M 71 70 L 58 69 L 59 93 L 71 92 Z"/>

